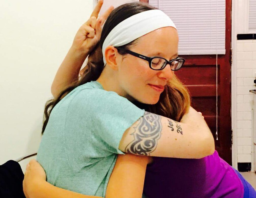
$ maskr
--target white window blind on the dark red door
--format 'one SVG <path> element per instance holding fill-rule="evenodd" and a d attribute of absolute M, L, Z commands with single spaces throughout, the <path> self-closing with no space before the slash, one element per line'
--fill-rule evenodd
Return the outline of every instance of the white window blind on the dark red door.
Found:
<path fill-rule="evenodd" d="M 180 55 L 225 54 L 225 0 L 149 0 L 149 4 L 175 23 Z"/>

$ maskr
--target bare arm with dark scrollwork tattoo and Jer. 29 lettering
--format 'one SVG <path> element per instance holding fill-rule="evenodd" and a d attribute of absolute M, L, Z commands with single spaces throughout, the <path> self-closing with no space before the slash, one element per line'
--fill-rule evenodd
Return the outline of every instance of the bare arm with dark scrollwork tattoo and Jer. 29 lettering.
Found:
<path fill-rule="evenodd" d="M 181 122 L 145 112 L 127 129 L 119 149 L 135 155 L 202 158 L 214 153 L 214 139 L 203 117 L 190 107 Z"/>

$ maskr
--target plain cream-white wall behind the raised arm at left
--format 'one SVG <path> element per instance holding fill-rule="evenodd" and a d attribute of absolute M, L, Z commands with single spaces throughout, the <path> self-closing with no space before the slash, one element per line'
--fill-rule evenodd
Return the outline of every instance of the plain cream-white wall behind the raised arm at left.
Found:
<path fill-rule="evenodd" d="M 102 11 L 130 1 L 104 0 Z M 52 80 L 96 2 L 1 2 L 0 164 L 37 152 Z M 20 163 L 23 170 L 28 161 Z"/>

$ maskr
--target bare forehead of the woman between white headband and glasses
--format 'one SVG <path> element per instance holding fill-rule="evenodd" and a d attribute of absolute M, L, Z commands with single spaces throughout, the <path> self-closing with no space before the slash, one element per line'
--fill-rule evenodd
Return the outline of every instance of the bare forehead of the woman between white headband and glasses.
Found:
<path fill-rule="evenodd" d="M 179 37 L 173 27 L 164 27 L 154 30 L 138 40 L 135 48 L 141 52 L 177 52 Z M 133 48 L 133 49 L 135 49 Z"/>

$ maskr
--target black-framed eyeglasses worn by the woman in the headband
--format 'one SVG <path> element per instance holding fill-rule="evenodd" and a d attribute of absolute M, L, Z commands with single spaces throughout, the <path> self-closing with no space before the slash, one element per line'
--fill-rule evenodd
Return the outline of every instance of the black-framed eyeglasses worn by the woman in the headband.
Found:
<path fill-rule="evenodd" d="M 136 52 L 132 52 L 129 49 L 122 49 L 121 47 L 115 47 L 117 49 L 120 49 L 121 51 L 131 54 L 133 56 L 136 56 L 138 58 L 141 58 L 143 60 L 147 60 L 149 63 L 149 67 L 154 70 L 162 70 L 166 67 L 167 64 L 170 64 L 172 71 L 177 71 L 181 68 L 181 66 L 185 63 L 184 58 L 174 58 L 172 60 L 166 60 L 165 58 L 154 56 L 154 57 L 147 57 L 142 54 L 138 54 Z"/>

